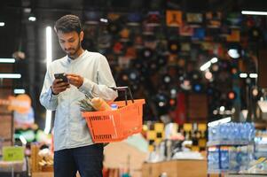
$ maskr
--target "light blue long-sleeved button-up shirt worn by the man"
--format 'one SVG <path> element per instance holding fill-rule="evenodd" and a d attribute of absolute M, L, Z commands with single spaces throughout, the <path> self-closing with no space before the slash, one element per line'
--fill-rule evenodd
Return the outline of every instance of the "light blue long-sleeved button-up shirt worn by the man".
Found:
<path fill-rule="evenodd" d="M 71 85 L 59 95 L 53 95 L 51 85 L 55 79 L 54 73 L 79 74 L 83 77 L 82 86 L 77 89 Z M 77 148 L 93 143 L 78 103 L 86 93 L 102 97 L 106 101 L 114 100 L 117 92 L 109 87 L 115 87 L 114 78 L 106 58 L 97 52 L 84 50 L 82 55 L 74 60 L 66 56 L 48 66 L 40 102 L 47 110 L 56 111 L 54 150 Z"/>

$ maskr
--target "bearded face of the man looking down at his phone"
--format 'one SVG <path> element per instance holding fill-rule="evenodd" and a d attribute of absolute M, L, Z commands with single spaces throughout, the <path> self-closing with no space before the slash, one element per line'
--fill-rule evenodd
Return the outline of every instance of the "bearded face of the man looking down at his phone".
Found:
<path fill-rule="evenodd" d="M 74 57 L 78 50 L 81 48 L 81 42 L 83 39 L 83 32 L 78 34 L 73 31 L 70 33 L 58 32 L 59 44 L 69 57 Z"/>

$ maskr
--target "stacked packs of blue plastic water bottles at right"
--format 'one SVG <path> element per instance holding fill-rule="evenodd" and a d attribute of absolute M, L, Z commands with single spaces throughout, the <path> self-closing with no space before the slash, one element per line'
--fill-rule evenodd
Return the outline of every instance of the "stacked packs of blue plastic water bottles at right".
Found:
<path fill-rule="evenodd" d="M 253 123 L 208 127 L 208 173 L 238 173 L 255 159 Z"/>

